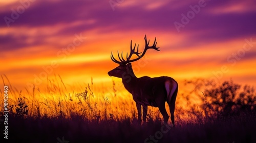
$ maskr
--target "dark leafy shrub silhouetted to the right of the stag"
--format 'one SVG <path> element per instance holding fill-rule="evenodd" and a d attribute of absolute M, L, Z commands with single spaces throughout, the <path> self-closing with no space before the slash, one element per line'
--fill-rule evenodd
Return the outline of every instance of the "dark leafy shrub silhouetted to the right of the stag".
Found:
<path fill-rule="evenodd" d="M 202 105 L 204 109 L 213 109 L 224 116 L 255 111 L 256 96 L 254 87 L 245 85 L 241 90 L 241 85 L 233 83 L 232 80 L 224 81 L 219 86 L 214 83 L 210 84 L 212 87 L 204 90 L 203 100 L 206 101 Z"/>

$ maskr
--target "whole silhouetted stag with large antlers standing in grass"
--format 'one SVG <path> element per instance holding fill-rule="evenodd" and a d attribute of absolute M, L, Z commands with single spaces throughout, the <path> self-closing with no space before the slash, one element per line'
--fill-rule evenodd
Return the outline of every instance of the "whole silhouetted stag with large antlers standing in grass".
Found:
<path fill-rule="evenodd" d="M 178 83 L 170 77 L 162 76 L 156 78 L 150 78 L 147 76 L 137 78 L 134 74 L 132 68 L 132 62 L 141 59 L 148 49 L 154 49 L 159 51 L 159 47 L 156 47 L 157 42 L 156 38 L 152 46 L 148 46 L 150 40 L 144 37 L 145 48 L 143 53 L 139 53 L 139 44 L 136 49 L 136 43 L 133 47 L 131 40 L 131 52 L 128 56 L 126 54 L 126 60 L 123 58 L 123 53 L 121 56 L 118 53 L 119 61 L 116 60 L 111 52 L 111 60 L 119 66 L 109 71 L 109 76 L 114 76 L 122 79 L 122 83 L 126 90 L 128 90 L 132 96 L 133 100 L 136 103 L 138 110 L 138 121 L 141 123 L 141 106 L 143 109 L 143 122 L 146 122 L 147 106 L 158 107 L 161 114 L 163 115 L 164 123 L 168 122 L 168 113 L 165 109 L 165 102 L 167 102 L 170 109 L 170 120 L 172 121 L 173 126 L 175 125 L 174 121 L 174 110 L 175 110 L 175 101 L 178 93 Z M 141 55 L 140 55 L 141 54 Z M 136 55 L 137 58 L 131 59 L 133 55 Z"/>

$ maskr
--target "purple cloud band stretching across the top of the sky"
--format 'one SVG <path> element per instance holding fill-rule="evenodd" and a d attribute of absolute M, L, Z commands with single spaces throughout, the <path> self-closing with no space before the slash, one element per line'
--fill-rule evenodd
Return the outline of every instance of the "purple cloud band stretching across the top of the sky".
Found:
<path fill-rule="evenodd" d="M 10 27 L 16 28 L 17 33 L 19 33 L 18 29 L 20 27 L 52 27 L 54 29 L 58 25 L 63 25 L 61 30 L 54 35 L 50 35 L 55 37 L 70 36 L 93 29 L 97 29 L 101 33 L 110 34 L 115 31 L 123 31 L 125 33 L 126 31 L 151 30 L 158 33 L 173 33 L 186 36 L 186 41 L 180 43 L 180 47 L 197 45 L 199 42 L 209 44 L 234 38 L 248 38 L 256 34 L 254 26 L 254 23 L 256 23 L 256 11 L 223 14 L 210 12 L 220 6 L 232 6 L 233 3 L 231 1 L 205 1 L 206 6 L 202 7 L 194 18 L 189 19 L 189 23 L 184 28 L 180 28 L 179 33 L 174 22 L 181 22 L 181 14 L 186 15 L 191 10 L 190 5 L 198 5 L 198 2 L 166 2 L 165 5 L 155 9 L 147 9 L 146 6 L 141 4 L 142 2 L 136 2 L 131 6 L 126 6 L 128 2 L 124 2 L 117 5 L 115 11 L 113 11 L 108 1 L 36 1 L 24 13 L 20 14 L 15 22 L 10 23 Z M 16 5 L 11 5 L 10 8 L 15 9 L 19 5 L 17 3 Z M 251 4 L 248 4 L 248 7 L 249 5 Z M 256 4 L 254 4 L 255 6 Z M 4 17 L 10 17 L 11 12 L 10 9 L 0 12 L 2 19 L 0 28 L 7 28 Z M 87 21 L 90 20 L 94 22 L 88 23 Z M 80 23 L 72 26 L 71 24 L 74 22 Z M 31 43 L 25 42 L 26 38 L 31 37 L 17 37 L 14 35 L 15 33 L 8 33 L 0 36 L 1 50 L 11 50 L 31 45 Z M 24 35 L 26 34 L 24 33 Z M 34 44 L 43 44 L 40 41 L 44 41 L 44 38 L 49 35 L 34 36 L 40 38 Z M 9 48 L 3 48 L 6 46 Z"/>

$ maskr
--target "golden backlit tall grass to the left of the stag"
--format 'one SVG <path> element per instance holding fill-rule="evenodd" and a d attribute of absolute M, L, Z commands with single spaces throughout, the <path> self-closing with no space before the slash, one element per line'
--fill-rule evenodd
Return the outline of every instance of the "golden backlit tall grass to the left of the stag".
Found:
<path fill-rule="evenodd" d="M 6 76 L 2 76 L 3 83 L 9 87 L 10 113 L 17 114 L 19 100 L 27 106 L 30 117 L 65 117 L 79 115 L 87 120 L 123 120 L 136 115 L 136 108 L 129 92 L 121 88 L 116 90 L 115 82 L 111 88 L 95 87 L 91 84 L 66 85 L 60 76 L 47 79 L 46 85 L 17 90 Z M 92 79 L 93 81 L 93 79 Z M 4 92 L 0 91 L 1 101 L 4 104 Z M 24 105 L 25 106 L 25 105 Z M 3 108 L 0 109 L 3 112 Z M 154 113 L 154 109 L 150 109 Z"/>

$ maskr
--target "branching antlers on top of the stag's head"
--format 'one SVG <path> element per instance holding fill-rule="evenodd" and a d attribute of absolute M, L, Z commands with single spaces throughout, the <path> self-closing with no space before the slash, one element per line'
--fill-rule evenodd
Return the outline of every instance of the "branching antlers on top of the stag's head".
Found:
<path fill-rule="evenodd" d="M 135 51 L 136 43 L 135 43 L 135 45 L 134 45 L 134 47 L 133 47 L 133 46 L 132 46 L 132 40 L 131 40 L 131 50 L 130 50 L 131 52 L 130 52 L 130 55 L 129 55 L 129 56 L 128 56 L 128 53 L 126 53 L 126 60 L 123 58 L 123 52 L 121 53 L 121 58 L 120 58 L 118 51 L 117 51 L 117 54 L 118 54 L 118 58 L 119 58 L 120 61 L 118 61 L 118 60 L 116 60 L 116 59 L 114 58 L 112 52 L 111 52 L 111 60 L 112 60 L 113 62 L 115 62 L 115 63 L 118 63 L 118 64 L 127 64 L 127 63 L 134 62 L 134 61 L 137 61 L 137 60 L 139 60 L 140 58 L 142 58 L 142 57 L 145 55 L 147 49 L 155 49 L 155 50 L 157 50 L 157 51 L 160 51 L 160 50 L 158 50 L 159 47 L 156 47 L 156 45 L 157 45 L 156 39 L 157 39 L 157 38 L 155 38 L 155 41 L 154 41 L 154 43 L 153 43 L 152 46 L 148 46 L 148 44 L 150 44 L 150 40 L 148 40 L 148 42 L 147 42 L 146 35 L 145 35 L 145 37 L 144 37 L 144 40 L 145 40 L 145 49 L 144 49 L 144 51 L 143 51 L 143 53 L 142 53 L 141 55 L 139 55 L 139 54 L 141 53 L 141 52 L 139 53 L 139 44 L 137 45 L 137 51 Z M 138 58 L 133 59 L 133 60 L 130 60 L 133 54 L 137 55 Z"/>

